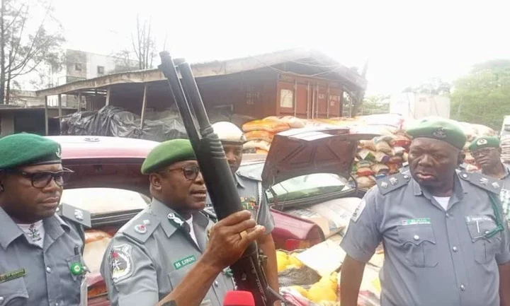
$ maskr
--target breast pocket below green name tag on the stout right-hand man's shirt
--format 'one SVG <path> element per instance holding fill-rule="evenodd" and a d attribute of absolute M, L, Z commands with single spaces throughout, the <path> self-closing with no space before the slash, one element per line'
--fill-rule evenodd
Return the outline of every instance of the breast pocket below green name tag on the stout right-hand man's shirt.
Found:
<path fill-rule="evenodd" d="M 438 264 L 436 238 L 431 224 L 401 225 L 398 235 L 409 266 L 427 268 Z"/>

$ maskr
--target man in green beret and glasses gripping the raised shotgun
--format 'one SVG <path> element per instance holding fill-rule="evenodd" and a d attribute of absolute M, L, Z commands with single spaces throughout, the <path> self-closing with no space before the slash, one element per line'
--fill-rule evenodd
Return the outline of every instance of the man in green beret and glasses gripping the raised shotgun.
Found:
<path fill-rule="evenodd" d="M 234 289 L 227 267 L 265 228 L 249 211 L 215 224 L 202 213 L 207 191 L 187 139 L 147 155 L 152 203 L 120 228 L 101 264 L 113 306 L 222 305 Z"/>

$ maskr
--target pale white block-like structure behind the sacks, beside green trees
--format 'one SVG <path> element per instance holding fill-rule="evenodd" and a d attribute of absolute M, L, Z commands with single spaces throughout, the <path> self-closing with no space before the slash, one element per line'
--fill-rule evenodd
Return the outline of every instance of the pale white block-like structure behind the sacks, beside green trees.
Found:
<path fill-rule="evenodd" d="M 414 119 L 450 118 L 450 98 L 429 93 L 397 93 L 390 98 L 390 113 Z"/>

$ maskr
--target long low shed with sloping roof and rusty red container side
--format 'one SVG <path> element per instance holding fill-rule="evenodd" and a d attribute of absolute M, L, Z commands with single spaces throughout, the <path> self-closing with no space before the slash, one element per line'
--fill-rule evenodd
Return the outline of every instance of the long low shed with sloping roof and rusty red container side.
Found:
<path fill-rule="evenodd" d="M 344 93 L 359 98 L 367 85 L 358 73 L 309 49 L 191 64 L 191 68 L 207 110 L 229 107 L 251 117 L 340 117 Z M 37 95 L 48 101 L 52 95 L 86 97 L 86 110 L 123 107 L 140 114 L 141 125 L 146 111 L 161 112 L 174 104 L 158 69 L 75 81 L 39 90 Z"/>

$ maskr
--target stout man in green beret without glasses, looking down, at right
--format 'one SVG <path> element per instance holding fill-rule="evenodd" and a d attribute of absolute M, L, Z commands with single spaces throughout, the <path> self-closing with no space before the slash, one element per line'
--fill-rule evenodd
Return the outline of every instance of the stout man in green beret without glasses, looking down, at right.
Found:
<path fill-rule="evenodd" d="M 510 305 L 509 230 L 499 184 L 456 172 L 465 135 L 446 119 L 407 133 L 409 172 L 365 195 L 341 247 L 341 305 L 356 306 L 365 263 L 382 240 L 381 305 Z M 501 298 L 501 304 L 500 304 Z"/>

